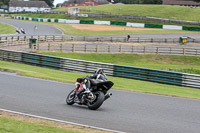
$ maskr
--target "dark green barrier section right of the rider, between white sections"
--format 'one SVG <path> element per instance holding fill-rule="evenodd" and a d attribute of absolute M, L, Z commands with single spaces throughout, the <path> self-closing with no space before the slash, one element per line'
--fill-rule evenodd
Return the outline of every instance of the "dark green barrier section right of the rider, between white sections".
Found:
<path fill-rule="evenodd" d="M 114 76 L 182 86 L 182 73 L 129 66 L 114 66 Z"/>

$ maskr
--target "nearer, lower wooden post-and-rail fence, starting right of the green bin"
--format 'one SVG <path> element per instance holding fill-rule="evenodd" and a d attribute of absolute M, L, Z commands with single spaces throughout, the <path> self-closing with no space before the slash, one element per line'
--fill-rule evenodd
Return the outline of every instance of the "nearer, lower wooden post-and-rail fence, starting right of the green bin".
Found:
<path fill-rule="evenodd" d="M 141 53 L 160 55 L 200 55 L 200 48 L 183 46 L 133 46 L 105 44 L 38 44 L 37 51 L 87 53 Z"/>

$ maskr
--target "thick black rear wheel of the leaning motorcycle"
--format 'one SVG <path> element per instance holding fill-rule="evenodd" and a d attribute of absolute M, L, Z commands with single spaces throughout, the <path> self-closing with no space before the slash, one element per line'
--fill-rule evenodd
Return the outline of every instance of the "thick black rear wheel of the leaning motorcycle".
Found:
<path fill-rule="evenodd" d="M 97 91 L 94 93 L 96 99 L 92 102 L 88 102 L 88 108 L 91 110 L 96 110 L 98 109 L 104 102 L 104 93 L 101 91 Z"/>

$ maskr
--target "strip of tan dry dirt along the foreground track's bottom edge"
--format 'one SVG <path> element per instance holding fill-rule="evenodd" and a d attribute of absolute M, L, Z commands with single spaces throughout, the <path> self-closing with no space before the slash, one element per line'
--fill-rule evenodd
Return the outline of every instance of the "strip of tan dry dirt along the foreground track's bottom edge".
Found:
<path fill-rule="evenodd" d="M 71 130 L 71 131 L 80 132 L 80 133 L 111 133 L 108 131 L 97 130 L 97 129 L 87 128 L 87 127 L 82 127 L 82 126 L 76 126 L 72 124 L 50 121 L 50 120 L 44 120 L 44 119 L 39 119 L 39 118 L 34 118 L 34 117 L 29 117 L 29 116 L 24 116 L 24 115 L 18 115 L 14 113 L 5 112 L 5 111 L 0 111 L 0 118 L 8 118 L 8 119 L 19 120 L 19 121 L 23 121 L 27 123 L 39 124 L 39 125 L 44 125 L 44 126 L 52 126 L 52 127 L 57 127 L 64 130 Z"/>

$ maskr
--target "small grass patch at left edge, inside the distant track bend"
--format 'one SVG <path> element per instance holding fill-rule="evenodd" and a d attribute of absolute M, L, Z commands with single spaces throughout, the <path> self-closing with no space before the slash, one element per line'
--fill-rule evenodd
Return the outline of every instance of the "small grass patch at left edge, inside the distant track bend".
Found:
<path fill-rule="evenodd" d="M 14 34 L 16 33 L 16 29 L 13 26 L 8 24 L 0 23 L 0 35 L 4 34 Z"/>

